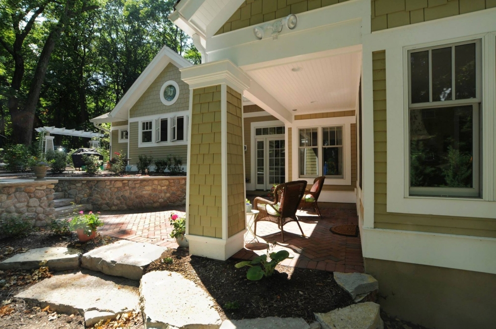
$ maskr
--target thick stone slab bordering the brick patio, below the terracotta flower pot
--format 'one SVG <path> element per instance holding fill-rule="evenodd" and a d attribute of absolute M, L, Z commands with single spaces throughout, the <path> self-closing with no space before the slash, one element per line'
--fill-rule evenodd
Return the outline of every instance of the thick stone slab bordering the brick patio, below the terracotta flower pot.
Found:
<path fill-rule="evenodd" d="M 81 267 L 139 280 L 144 274 L 144 267 L 159 259 L 166 250 L 165 247 L 150 243 L 120 240 L 84 254 Z"/>

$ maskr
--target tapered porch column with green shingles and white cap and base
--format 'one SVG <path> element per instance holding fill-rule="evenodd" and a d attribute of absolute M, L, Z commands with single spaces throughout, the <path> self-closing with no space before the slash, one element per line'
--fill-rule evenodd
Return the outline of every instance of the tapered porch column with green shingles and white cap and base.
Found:
<path fill-rule="evenodd" d="M 248 76 L 229 60 L 181 69 L 189 85 L 186 238 L 189 253 L 226 260 L 244 246 L 243 91 Z"/>

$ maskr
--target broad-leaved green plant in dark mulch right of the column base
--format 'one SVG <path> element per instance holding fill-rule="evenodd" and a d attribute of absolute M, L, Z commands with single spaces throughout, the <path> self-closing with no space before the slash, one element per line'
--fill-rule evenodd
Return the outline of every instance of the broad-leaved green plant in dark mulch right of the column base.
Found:
<path fill-rule="evenodd" d="M 267 249 L 268 254 L 268 249 Z M 271 276 L 274 273 L 274 270 L 280 262 L 284 261 L 289 257 L 289 252 L 287 250 L 280 250 L 278 252 L 270 253 L 270 255 L 262 255 L 258 256 L 252 261 L 244 261 L 239 262 L 235 265 L 237 269 L 240 269 L 245 266 L 249 266 L 249 270 L 247 272 L 247 279 L 251 281 L 260 280 L 264 276 Z"/>

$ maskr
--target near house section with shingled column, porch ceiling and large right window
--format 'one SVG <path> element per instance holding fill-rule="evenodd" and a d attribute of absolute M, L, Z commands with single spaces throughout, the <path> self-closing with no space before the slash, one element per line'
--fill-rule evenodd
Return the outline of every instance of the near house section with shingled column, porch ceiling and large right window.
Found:
<path fill-rule="evenodd" d="M 325 201 L 356 204 L 387 312 L 431 328 L 494 326 L 495 7 L 178 1 L 170 19 L 202 55 L 179 68 L 190 253 L 243 248 L 246 188 L 325 174 Z"/>

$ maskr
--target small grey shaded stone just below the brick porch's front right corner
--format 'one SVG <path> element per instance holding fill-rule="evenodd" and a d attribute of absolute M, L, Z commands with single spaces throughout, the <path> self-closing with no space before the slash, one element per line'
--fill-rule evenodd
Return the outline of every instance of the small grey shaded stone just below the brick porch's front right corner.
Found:
<path fill-rule="evenodd" d="M 370 274 L 334 272 L 334 280 L 355 302 L 361 301 L 369 293 L 379 289 L 379 282 Z"/>

